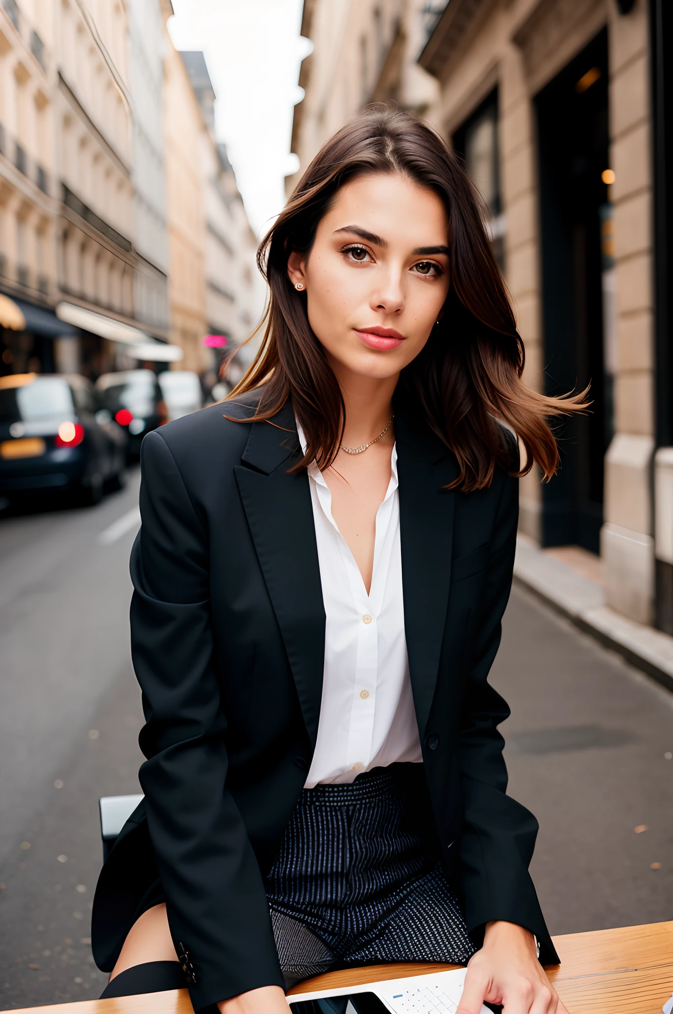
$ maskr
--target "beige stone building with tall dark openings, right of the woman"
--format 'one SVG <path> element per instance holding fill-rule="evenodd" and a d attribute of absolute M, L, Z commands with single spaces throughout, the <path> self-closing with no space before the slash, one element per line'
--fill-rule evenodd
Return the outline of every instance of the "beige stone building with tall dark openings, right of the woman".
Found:
<path fill-rule="evenodd" d="M 666 387 L 657 363 L 670 331 L 659 344 L 655 334 L 652 40 L 658 16 L 670 38 L 665 8 L 661 0 L 307 3 L 302 33 L 314 51 L 302 67 L 293 150 L 305 167 L 329 133 L 377 99 L 423 113 L 462 155 L 516 305 L 527 383 L 549 393 L 590 384 L 591 412 L 562 430 L 559 475 L 522 482 L 521 530 L 542 546 L 600 553 L 608 604 L 673 633 L 665 448 L 653 482 L 657 446 L 673 443 L 670 426 L 667 438 L 657 424 Z M 378 80 L 358 95 L 354 61 L 377 24 L 386 26 Z"/>

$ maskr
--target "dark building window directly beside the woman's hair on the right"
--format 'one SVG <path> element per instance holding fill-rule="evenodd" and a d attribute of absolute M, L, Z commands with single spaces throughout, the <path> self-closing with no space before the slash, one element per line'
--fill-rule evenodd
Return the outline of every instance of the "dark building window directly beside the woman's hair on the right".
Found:
<path fill-rule="evenodd" d="M 452 141 L 485 205 L 494 254 L 504 271 L 505 219 L 500 188 L 497 88 L 455 132 Z"/>

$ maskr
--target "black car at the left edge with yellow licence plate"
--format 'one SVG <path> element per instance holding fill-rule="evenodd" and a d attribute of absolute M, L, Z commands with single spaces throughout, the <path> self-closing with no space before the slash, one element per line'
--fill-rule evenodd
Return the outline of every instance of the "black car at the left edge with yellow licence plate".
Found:
<path fill-rule="evenodd" d="M 0 377 L 0 496 L 75 490 L 94 504 L 124 484 L 127 436 L 78 375 Z"/>

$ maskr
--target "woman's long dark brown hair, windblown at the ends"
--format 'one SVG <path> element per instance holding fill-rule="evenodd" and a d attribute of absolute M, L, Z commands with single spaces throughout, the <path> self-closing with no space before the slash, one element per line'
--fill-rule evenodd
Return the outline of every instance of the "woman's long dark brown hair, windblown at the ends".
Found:
<path fill-rule="evenodd" d="M 448 216 L 451 287 L 444 314 L 423 351 L 400 375 L 395 401 L 425 417 L 458 463 L 452 486 L 464 491 L 491 484 L 497 463 L 525 475 L 537 461 L 545 478 L 558 465 L 546 419 L 581 409 L 583 395 L 546 397 L 521 379 L 524 347 L 507 288 L 487 235 L 482 206 L 461 162 L 442 138 L 416 116 L 371 107 L 320 149 L 263 239 L 257 265 L 271 289 L 260 349 L 229 395 L 264 384 L 255 421 L 271 419 L 288 396 L 304 431 L 306 453 L 292 470 L 315 460 L 328 467 L 345 426 L 342 391 L 308 323 L 306 295 L 288 278 L 293 250 L 310 252 L 318 222 L 334 195 L 363 173 L 399 172 L 428 187 Z M 519 436 L 526 453 L 512 468 L 503 427 Z M 518 462 L 517 462 L 518 463 Z"/>

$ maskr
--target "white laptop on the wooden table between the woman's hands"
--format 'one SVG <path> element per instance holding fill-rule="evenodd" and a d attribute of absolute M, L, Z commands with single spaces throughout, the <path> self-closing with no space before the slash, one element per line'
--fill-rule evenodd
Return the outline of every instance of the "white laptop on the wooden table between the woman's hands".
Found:
<path fill-rule="evenodd" d="M 292 1014 L 455 1014 L 465 969 L 288 997 Z M 481 1014 L 490 1014 L 485 1007 Z"/>

